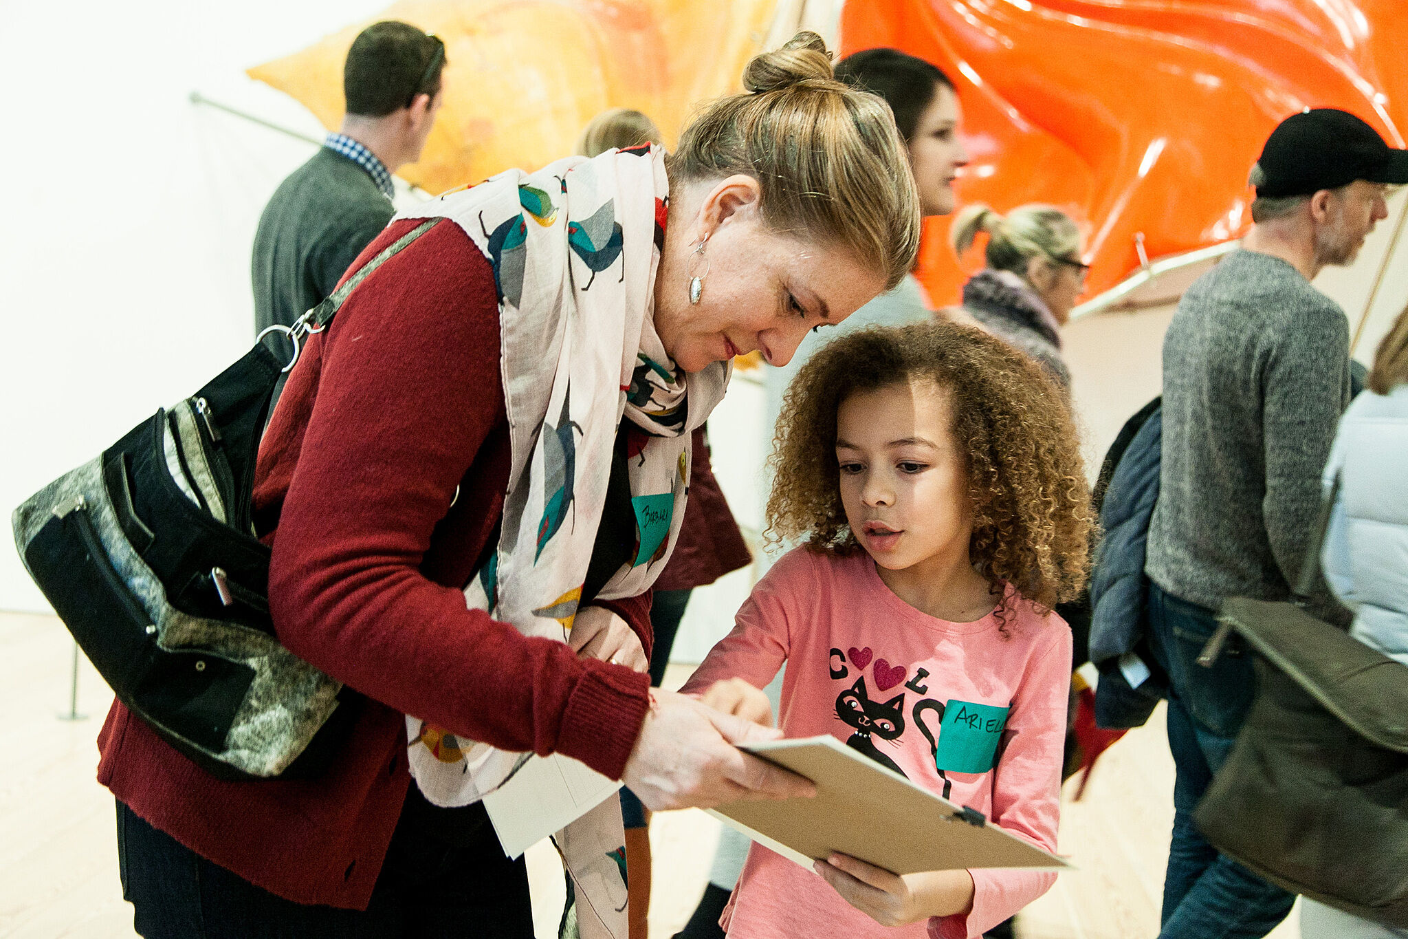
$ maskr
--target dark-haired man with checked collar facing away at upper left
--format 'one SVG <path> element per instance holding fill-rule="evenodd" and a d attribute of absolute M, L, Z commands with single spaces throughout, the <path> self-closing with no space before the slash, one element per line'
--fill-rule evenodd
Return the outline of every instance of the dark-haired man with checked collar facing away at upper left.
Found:
<path fill-rule="evenodd" d="M 391 221 L 391 173 L 420 159 L 441 107 L 445 45 L 406 23 L 362 31 L 342 69 L 346 117 L 259 217 L 255 329 L 293 325 Z"/>

